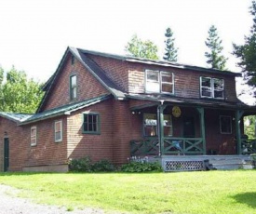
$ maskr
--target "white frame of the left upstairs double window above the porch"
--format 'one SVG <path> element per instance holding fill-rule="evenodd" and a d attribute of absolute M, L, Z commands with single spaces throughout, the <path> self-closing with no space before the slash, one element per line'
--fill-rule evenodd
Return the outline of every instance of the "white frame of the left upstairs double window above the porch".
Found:
<path fill-rule="evenodd" d="M 148 79 L 149 73 L 153 73 L 153 74 L 155 73 L 155 75 L 157 76 L 157 80 Z M 167 75 L 171 75 L 171 79 L 172 79 L 171 83 L 163 81 L 163 77 L 167 76 Z M 172 92 L 163 91 L 162 90 L 163 84 L 166 84 L 166 85 L 168 84 L 168 85 L 172 86 L 172 89 L 171 89 Z M 152 88 L 154 88 L 154 89 L 152 89 Z M 146 70 L 145 71 L 145 92 L 146 93 L 174 94 L 174 74 L 171 72 L 164 72 L 164 71 L 158 71 L 158 70 Z"/>

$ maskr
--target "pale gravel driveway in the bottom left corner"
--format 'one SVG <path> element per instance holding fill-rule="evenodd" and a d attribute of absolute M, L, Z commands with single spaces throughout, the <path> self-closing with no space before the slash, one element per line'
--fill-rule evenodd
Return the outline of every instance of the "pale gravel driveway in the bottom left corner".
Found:
<path fill-rule="evenodd" d="M 67 211 L 65 207 L 38 205 L 30 199 L 17 197 L 18 190 L 0 184 L 0 214 L 102 214 L 101 209 L 86 208 Z"/>

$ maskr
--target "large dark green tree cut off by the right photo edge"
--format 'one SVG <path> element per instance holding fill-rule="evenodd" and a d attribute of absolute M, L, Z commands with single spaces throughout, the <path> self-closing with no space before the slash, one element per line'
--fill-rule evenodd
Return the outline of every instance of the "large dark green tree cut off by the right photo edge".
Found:
<path fill-rule="evenodd" d="M 241 68 L 245 82 L 250 87 L 256 87 L 256 3 L 252 2 L 249 13 L 253 16 L 253 25 L 249 36 L 245 36 L 245 44 L 233 44 L 233 55 L 239 59 L 237 66 Z M 256 94 L 254 93 L 254 97 Z"/>

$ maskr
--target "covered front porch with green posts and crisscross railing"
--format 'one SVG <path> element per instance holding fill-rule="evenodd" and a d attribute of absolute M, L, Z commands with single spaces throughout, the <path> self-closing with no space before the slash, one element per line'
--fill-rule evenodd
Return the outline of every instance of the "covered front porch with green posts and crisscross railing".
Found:
<path fill-rule="evenodd" d="M 248 155 L 256 140 L 244 135 L 245 115 L 255 107 L 233 103 L 161 100 L 131 108 L 141 120 L 141 138 L 130 141 L 131 156 Z"/>

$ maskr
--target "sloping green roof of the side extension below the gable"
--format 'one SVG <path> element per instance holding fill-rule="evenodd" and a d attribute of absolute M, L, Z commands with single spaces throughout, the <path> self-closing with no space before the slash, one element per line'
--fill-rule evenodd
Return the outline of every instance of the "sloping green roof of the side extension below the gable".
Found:
<path fill-rule="evenodd" d="M 100 97 L 96 97 L 96 98 L 91 98 L 88 100 L 82 100 L 79 102 L 74 102 L 68 105 L 63 105 L 61 107 L 58 108 L 54 108 L 54 109 L 50 109 L 47 111 L 44 111 L 42 113 L 38 113 L 38 114 L 33 114 L 30 117 L 20 121 L 20 126 L 21 125 L 27 125 L 27 124 L 31 124 L 40 120 L 45 120 L 48 118 L 52 118 L 52 117 L 56 117 L 56 116 L 60 116 L 60 115 L 69 115 L 74 111 L 77 111 L 79 109 L 83 109 L 85 107 L 88 107 L 90 105 L 94 105 L 96 103 L 99 103 L 103 100 L 108 100 L 112 97 L 112 95 L 102 95 Z"/>

